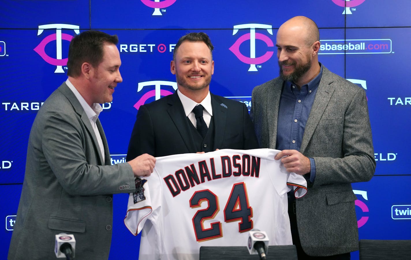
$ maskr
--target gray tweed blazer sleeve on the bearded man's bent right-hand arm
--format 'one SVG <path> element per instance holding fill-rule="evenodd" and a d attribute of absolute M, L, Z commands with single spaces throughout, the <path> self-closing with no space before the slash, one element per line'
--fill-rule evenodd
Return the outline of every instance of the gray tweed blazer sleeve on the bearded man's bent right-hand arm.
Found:
<path fill-rule="evenodd" d="M 332 134 L 325 134 L 323 142 L 332 142 L 329 138 Z M 345 110 L 342 142 L 338 142 L 341 145 L 336 143 L 335 146 L 336 149 L 341 149 L 341 158 L 313 156 L 316 167 L 314 187 L 369 181 L 374 175 L 376 163 L 371 125 L 367 97 L 362 89 L 358 88 Z"/>

